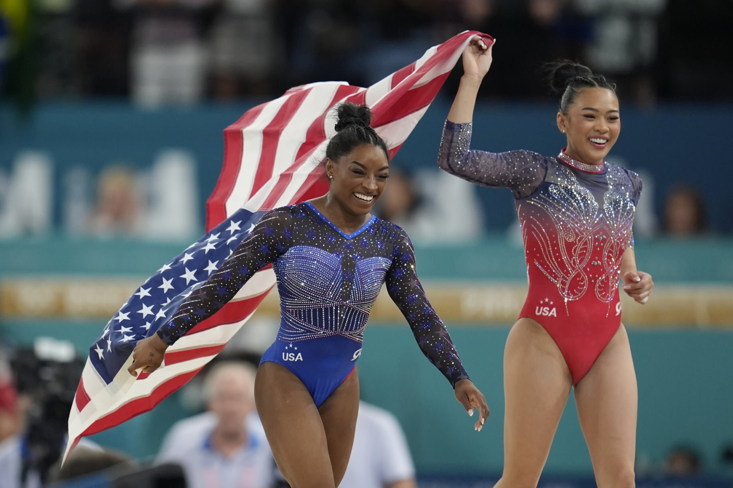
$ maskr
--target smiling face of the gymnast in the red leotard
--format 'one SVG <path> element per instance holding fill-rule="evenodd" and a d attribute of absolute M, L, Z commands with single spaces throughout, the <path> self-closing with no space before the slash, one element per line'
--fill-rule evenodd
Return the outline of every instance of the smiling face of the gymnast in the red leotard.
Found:
<path fill-rule="evenodd" d="M 567 135 L 568 156 L 600 164 L 621 132 L 619 99 L 607 88 L 583 88 L 567 114 L 557 114 L 557 126 Z"/>

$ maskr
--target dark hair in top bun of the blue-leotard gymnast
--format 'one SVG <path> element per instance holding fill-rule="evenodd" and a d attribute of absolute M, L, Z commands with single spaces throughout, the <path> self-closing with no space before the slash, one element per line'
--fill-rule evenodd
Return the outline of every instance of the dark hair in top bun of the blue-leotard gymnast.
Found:
<path fill-rule="evenodd" d="M 371 144 L 382 149 L 389 160 L 387 144 L 377 131 L 369 125 L 372 122 L 372 111 L 366 105 L 356 103 L 339 103 L 336 106 L 336 134 L 328 141 L 325 157 L 335 161 L 353 151 L 362 144 Z"/>

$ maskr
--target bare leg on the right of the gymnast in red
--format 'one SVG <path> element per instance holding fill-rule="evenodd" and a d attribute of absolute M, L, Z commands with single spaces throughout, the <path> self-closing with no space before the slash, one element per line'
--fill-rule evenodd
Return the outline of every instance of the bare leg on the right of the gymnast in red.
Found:
<path fill-rule="evenodd" d="M 575 403 L 598 487 L 633 487 L 636 373 L 622 325 L 575 386 Z"/>

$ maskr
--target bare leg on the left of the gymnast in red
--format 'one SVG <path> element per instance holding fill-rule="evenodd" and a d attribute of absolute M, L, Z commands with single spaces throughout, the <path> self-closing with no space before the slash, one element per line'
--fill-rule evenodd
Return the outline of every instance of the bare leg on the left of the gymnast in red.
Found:
<path fill-rule="evenodd" d="M 550 334 L 519 319 L 504 349 L 504 473 L 495 488 L 534 488 L 572 387 Z"/>

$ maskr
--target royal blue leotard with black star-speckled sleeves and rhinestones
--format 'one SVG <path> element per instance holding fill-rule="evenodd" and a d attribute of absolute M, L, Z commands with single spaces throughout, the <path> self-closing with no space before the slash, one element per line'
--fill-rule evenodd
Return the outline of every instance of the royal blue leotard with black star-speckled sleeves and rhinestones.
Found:
<path fill-rule="evenodd" d="M 277 277 L 281 322 L 262 362 L 290 369 L 316 406 L 353 372 L 369 311 L 384 283 L 430 362 L 451 385 L 468 378 L 418 281 L 407 234 L 376 217 L 345 234 L 309 202 L 266 213 L 158 336 L 166 344 L 174 343 L 216 313 L 268 263 Z"/>

